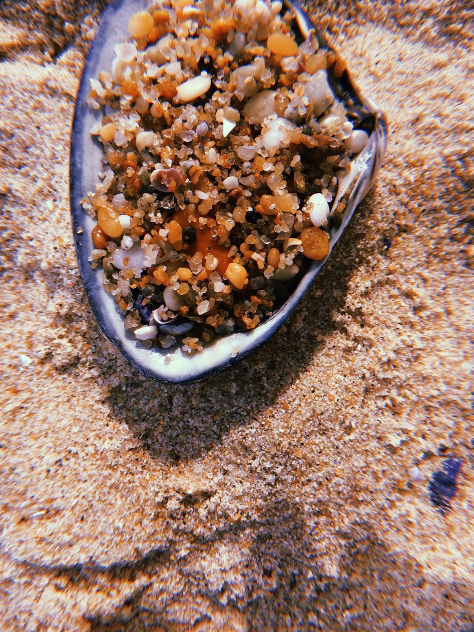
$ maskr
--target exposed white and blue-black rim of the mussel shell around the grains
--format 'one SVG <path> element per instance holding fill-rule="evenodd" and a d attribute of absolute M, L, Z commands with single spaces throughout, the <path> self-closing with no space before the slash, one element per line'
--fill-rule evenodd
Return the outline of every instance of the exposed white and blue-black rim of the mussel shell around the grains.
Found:
<path fill-rule="evenodd" d="M 296 22 L 303 36 L 306 36 L 310 29 L 315 28 L 300 4 L 293 0 L 285 0 L 284 4 L 295 10 Z M 90 128 L 97 121 L 98 112 L 90 111 L 87 107 L 89 79 L 95 78 L 99 70 L 111 65 L 114 58 L 114 45 L 121 42 L 123 33 L 127 32 L 128 18 L 132 13 L 146 6 L 146 0 L 112 0 L 102 14 L 97 34 L 85 62 L 71 131 L 71 214 L 80 273 L 88 300 L 102 332 L 146 377 L 160 382 L 185 384 L 205 379 L 239 362 L 264 344 L 288 319 L 327 258 L 331 256 L 332 248 L 343 234 L 356 206 L 374 183 L 386 150 L 387 123 L 383 112 L 374 106 L 372 101 L 363 97 L 351 83 L 358 99 L 374 118 L 374 130 L 370 134 L 365 149 L 353 160 L 349 173 L 339 180 L 337 195 L 331 204 L 332 209 L 336 208 L 344 193 L 349 195 L 349 198 L 341 224 L 337 228 L 330 229 L 329 255 L 322 261 L 310 263 L 291 295 L 272 317 L 252 331 L 236 332 L 219 337 L 203 351 L 190 356 L 183 353 L 180 348 L 174 351 L 160 348 L 145 349 L 133 334 L 126 332 L 123 318 L 112 296 L 104 288 L 100 270 L 92 270 L 90 267 L 88 257 L 94 248 L 90 231 L 95 222 L 83 211 L 80 200 L 87 195 L 88 190 L 94 190 L 102 157 L 102 148 L 90 135 Z M 316 32 L 316 34 L 320 46 L 324 47 L 324 38 L 320 33 Z M 350 191 L 349 194 L 348 191 Z M 82 231 L 78 233 L 77 229 L 82 229 Z"/>

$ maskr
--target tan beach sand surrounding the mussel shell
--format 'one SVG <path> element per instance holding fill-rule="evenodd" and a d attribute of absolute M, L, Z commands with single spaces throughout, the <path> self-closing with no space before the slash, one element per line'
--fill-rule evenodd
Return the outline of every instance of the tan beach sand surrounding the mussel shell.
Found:
<path fill-rule="evenodd" d="M 312 5 L 387 113 L 384 167 L 288 324 L 182 387 L 123 360 L 78 275 L 103 6 L 0 6 L 0 629 L 469 632 L 472 4 Z"/>

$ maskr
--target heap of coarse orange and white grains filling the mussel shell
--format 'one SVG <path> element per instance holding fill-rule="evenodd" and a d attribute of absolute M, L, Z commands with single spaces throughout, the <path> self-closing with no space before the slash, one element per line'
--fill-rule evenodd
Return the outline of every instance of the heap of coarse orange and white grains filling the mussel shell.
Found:
<path fill-rule="evenodd" d="M 91 262 L 148 348 L 253 329 L 305 258 L 329 253 L 336 172 L 368 136 L 331 89 L 331 53 L 311 33 L 298 44 L 293 18 L 279 1 L 152 4 L 91 80 Z"/>

